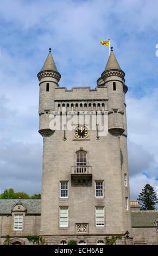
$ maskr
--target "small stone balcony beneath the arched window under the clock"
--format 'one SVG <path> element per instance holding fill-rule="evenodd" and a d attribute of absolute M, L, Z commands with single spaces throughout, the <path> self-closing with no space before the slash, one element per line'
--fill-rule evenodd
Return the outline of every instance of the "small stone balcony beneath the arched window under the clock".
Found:
<path fill-rule="evenodd" d="M 92 178 L 92 167 L 91 166 L 72 166 L 71 176 L 75 180 L 75 184 L 83 184 L 85 181 L 88 184 L 89 180 Z"/>

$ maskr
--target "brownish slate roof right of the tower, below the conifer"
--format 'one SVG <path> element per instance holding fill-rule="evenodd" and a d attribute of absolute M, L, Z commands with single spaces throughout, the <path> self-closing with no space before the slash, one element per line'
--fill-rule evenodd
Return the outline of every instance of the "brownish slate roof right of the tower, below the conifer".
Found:
<path fill-rule="evenodd" d="M 158 218 L 158 211 L 131 211 L 132 227 L 155 227 L 155 218 Z"/>

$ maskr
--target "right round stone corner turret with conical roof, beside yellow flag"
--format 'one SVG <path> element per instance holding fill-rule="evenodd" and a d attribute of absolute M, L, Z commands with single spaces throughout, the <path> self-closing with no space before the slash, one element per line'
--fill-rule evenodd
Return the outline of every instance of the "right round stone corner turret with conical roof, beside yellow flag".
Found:
<path fill-rule="evenodd" d="M 120 68 L 113 50 L 101 75 L 102 85 L 108 88 L 108 130 L 112 135 L 122 135 L 126 131 L 125 97 L 127 86 L 124 85 L 124 72 Z"/>

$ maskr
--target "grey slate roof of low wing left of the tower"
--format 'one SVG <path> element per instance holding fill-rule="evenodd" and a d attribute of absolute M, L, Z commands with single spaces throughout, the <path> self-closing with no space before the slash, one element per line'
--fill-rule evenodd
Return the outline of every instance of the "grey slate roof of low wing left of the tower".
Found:
<path fill-rule="evenodd" d="M 10 214 L 12 206 L 18 202 L 26 206 L 28 214 L 41 213 L 41 199 L 0 199 L 0 214 Z"/>

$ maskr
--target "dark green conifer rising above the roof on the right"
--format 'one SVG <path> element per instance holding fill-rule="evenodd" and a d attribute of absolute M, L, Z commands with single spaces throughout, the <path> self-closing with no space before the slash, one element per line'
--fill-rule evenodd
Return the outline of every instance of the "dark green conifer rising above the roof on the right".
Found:
<path fill-rule="evenodd" d="M 158 203 L 157 194 L 149 184 L 144 186 L 137 200 L 141 210 L 155 210 L 155 205 Z"/>

